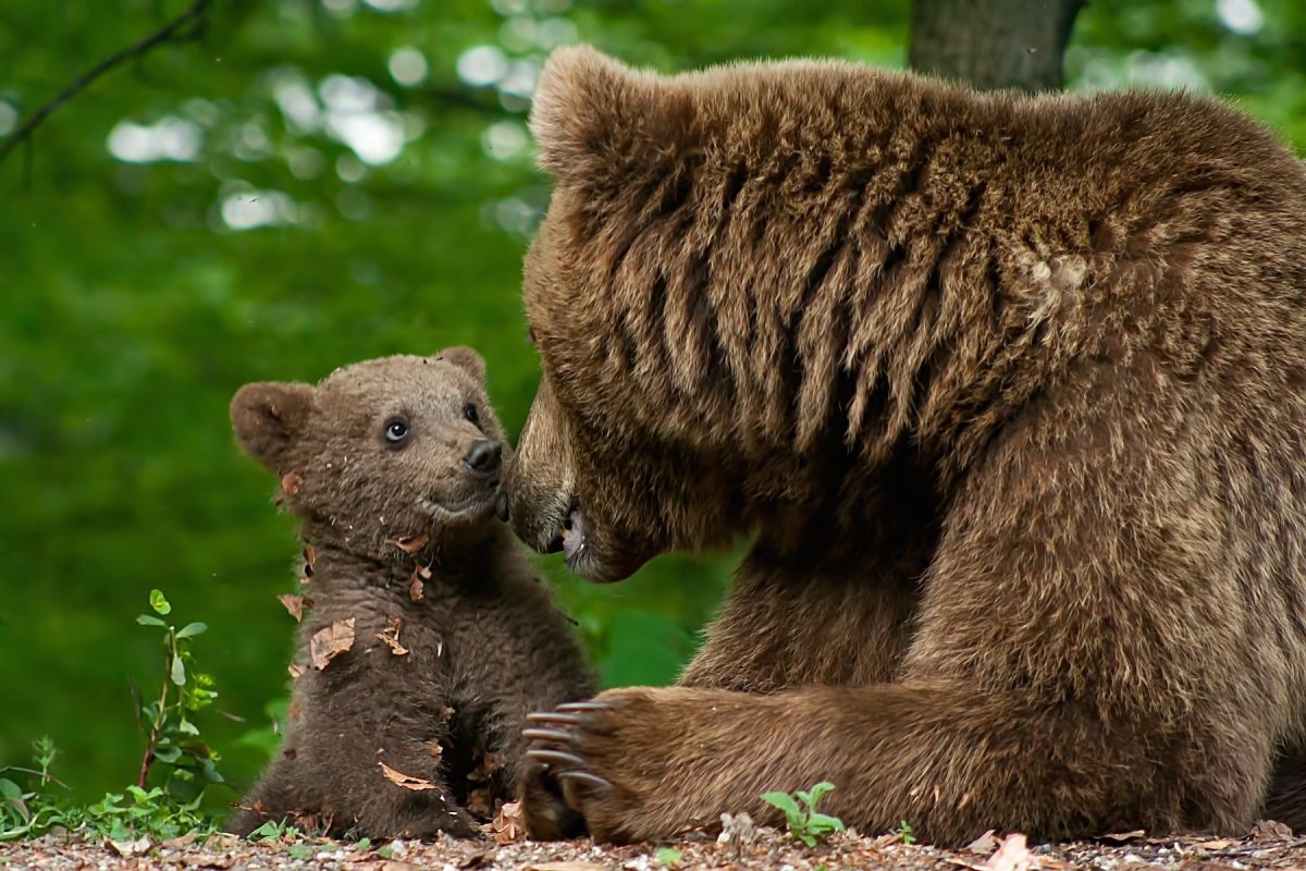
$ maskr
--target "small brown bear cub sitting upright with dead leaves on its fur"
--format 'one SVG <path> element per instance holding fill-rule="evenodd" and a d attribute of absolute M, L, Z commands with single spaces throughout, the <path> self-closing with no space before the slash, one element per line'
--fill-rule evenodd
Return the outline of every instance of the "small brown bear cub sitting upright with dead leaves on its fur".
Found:
<path fill-rule="evenodd" d="M 481 358 L 457 347 L 317 387 L 249 384 L 231 419 L 281 475 L 312 558 L 285 743 L 229 831 L 290 819 L 374 838 L 478 834 L 477 814 L 518 789 L 525 714 L 593 692 L 494 517 L 503 430 Z M 312 636 L 350 619 L 353 646 L 315 667 Z M 394 620 L 398 649 L 380 637 Z M 383 763 L 430 787 L 394 784 Z"/>

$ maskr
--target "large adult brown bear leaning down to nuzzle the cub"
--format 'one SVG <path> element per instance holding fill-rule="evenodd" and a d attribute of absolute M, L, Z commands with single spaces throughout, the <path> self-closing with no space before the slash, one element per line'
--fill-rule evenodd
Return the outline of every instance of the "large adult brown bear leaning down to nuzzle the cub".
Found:
<path fill-rule="evenodd" d="M 599 581 L 755 543 L 680 686 L 537 717 L 528 807 L 1243 831 L 1306 713 L 1292 153 L 1185 94 L 584 47 L 533 111 L 518 535 Z"/>

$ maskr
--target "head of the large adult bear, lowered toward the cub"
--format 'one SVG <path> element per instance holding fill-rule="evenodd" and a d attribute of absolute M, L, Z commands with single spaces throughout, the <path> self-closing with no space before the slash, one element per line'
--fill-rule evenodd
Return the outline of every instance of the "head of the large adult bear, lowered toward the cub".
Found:
<path fill-rule="evenodd" d="M 543 377 L 502 508 L 522 541 L 594 581 L 747 526 L 733 388 L 710 384 L 708 325 L 686 323 L 705 261 L 667 249 L 683 242 L 673 213 L 714 195 L 691 189 L 699 77 L 562 48 L 532 108 L 555 180 L 524 282 Z"/>

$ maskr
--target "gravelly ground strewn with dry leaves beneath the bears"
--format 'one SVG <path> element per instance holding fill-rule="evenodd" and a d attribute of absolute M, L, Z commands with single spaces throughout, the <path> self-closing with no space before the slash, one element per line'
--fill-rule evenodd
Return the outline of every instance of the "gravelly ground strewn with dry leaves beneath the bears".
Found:
<path fill-rule="evenodd" d="M 658 845 L 598 846 L 589 840 L 564 842 L 392 841 L 384 845 L 294 838 L 255 844 L 232 836 L 151 842 L 110 842 L 51 834 L 0 845 L 0 870 L 8 868 L 251 868 L 298 871 L 660 871 L 661 868 L 909 868 L 919 871 L 1143 871 L 1145 868 L 1302 868 L 1306 838 L 1286 827 L 1258 823 L 1242 838 L 1151 838 L 1141 832 L 1096 841 L 1027 845 L 1021 834 L 987 834 L 963 850 L 904 844 L 899 834 L 878 838 L 855 832 L 831 836 L 808 847 L 768 828 L 741 833 L 734 842 L 692 833 Z"/>

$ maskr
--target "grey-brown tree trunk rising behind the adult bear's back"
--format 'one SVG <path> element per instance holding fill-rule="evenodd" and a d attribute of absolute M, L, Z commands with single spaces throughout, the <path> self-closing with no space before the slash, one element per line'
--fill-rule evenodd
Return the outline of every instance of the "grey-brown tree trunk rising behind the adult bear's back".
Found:
<path fill-rule="evenodd" d="M 1059 90 L 1085 0 L 916 0 L 912 69 L 981 89 Z"/>

